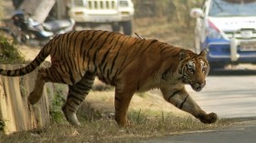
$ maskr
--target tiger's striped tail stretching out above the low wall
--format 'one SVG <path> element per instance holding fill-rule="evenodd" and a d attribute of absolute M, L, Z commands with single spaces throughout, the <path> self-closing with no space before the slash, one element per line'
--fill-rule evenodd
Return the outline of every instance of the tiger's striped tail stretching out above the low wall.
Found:
<path fill-rule="evenodd" d="M 0 68 L 0 75 L 6 76 L 6 77 L 19 77 L 27 75 L 28 73 L 32 72 L 37 68 L 37 66 L 40 66 L 41 63 L 48 57 L 50 51 L 50 48 L 48 48 L 48 44 L 44 46 L 37 57 L 29 63 L 27 66 L 17 68 L 17 69 L 11 69 L 11 70 L 5 70 Z"/>

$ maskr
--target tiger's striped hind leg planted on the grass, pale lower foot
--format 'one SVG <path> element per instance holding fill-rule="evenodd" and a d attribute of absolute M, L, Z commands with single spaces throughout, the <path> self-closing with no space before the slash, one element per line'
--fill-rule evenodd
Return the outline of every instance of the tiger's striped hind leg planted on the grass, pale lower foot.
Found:
<path fill-rule="evenodd" d="M 69 123 L 73 126 L 80 126 L 76 113 L 84 98 L 90 92 L 94 79 L 95 75 L 87 72 L 78 83 L 69 86 L 69 95 L 66 103 L 62 107 L 62 111 Z"/>

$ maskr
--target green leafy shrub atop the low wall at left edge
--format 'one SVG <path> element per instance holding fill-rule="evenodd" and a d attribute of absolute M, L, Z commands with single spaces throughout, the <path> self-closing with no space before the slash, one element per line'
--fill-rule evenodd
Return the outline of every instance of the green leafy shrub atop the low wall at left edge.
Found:
<path fill-rule="evenodd" d="M 25 57 L 10 43 L 5 36 L 0 36 L 0 64 L 25 63 Z"/>

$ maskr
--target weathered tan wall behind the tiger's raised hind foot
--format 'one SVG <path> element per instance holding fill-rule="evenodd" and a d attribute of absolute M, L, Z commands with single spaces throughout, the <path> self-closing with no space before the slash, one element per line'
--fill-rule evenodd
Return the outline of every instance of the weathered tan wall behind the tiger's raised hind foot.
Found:
<path fill-rule="evenodd" d="M 6 69 L 16 67 L 19 66 L 0 65 L 0 68 Z M 45 86 L 43 97 L 36 105 L 31 106 L 27 102 L 36 77 L 37 70 L 24 77 L 0 76 L 0 121 L 5 122 L 5 134 L 39 128 L 49 123 L 50 84 Z"/>

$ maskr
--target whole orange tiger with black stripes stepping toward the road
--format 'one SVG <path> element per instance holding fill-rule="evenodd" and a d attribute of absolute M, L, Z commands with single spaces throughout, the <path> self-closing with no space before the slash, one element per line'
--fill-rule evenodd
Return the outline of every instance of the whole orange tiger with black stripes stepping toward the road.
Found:
<path fill-rule="evenodd" d="M 206 50 L 196 54 L 156 39 L 81 30 L 55 36 L 27 66 L 0 69 L 0 75 L 27 75 L 50 56 L 51 65 L 37 70 L 35 87 L 27 100 L 36 104 L 46 82 L 67 84 L 68 97 L 62 111 L 69 124 L 76 127 L 80 126 L 76 113 L 96 77 L 114 87 L 114 119 L 119 126 L 130 125 L 127 110 L 133 94 L 154 88 L 160 89 L 170 104 L 210 124 L 217 121 L 217 114 L 201 109 L 185 88 L 190 85 L 200 91 L 205 87 L 209 72 L 206 55 Z"/>

